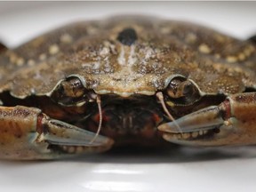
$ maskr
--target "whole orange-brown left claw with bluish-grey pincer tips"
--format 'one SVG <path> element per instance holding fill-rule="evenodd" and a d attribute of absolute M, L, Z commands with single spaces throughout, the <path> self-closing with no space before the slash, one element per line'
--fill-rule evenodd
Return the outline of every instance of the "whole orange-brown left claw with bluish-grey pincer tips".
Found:
<path fill-rule="evenodd" d="M 51 159 L 111 148 L 113 140 L 45 116 L 38 108 L 0 107 L 0 158 Z"/>

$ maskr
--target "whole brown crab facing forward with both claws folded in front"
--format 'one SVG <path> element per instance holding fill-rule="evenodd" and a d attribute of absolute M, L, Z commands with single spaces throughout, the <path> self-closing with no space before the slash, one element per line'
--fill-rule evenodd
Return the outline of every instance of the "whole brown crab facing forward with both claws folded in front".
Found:
<path fill-rule="evenodd" d="M 255 37 L 125 16 L 0 52 L 1 158 L 256 144 Z"/>

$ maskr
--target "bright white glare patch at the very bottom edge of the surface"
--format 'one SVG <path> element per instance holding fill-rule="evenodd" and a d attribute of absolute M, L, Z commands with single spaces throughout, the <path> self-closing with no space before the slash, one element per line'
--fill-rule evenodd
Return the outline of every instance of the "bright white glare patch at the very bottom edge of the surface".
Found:
<path fill-rule="evenodd" d="M 83 184 L 84 188 L 97 191 L 148 191 L 148 184 L 129 181 L 89 181 Z"/>

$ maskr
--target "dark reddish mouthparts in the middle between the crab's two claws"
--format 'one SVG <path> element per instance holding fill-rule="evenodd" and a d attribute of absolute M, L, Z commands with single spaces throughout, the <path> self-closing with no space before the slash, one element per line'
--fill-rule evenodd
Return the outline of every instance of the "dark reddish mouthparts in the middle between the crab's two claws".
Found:
<path fill-rule="evenodd" d="M 131 98 L 115 96 L 101 95 L 100 135 L 115 140 L 115 147 L 134 143 L 144 145 L 152 140 L 157 141 L 159 138 L 156 126 L 163 122 L 164 116 L 156 98 L 140 95 Z M 94 109 L 90 116 L 81 121 L 81 126 L 91 132 L 97 132 L 99 122 L 100 111 Z"/>

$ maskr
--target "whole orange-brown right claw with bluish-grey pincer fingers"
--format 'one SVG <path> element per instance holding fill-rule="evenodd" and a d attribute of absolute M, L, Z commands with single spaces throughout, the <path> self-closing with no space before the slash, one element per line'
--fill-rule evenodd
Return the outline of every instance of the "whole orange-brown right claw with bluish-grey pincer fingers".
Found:
<path fill-rule="evenodd" d="M 177 137 L 183 134 L 196 137 Z M 239 93 L 228 97 L 219 106 L 203 108 L 173 122 L 162 124 L 164 139 L 180 144 L 198 146 L 251 145 L 256 144 L 256 93 Z M 217 132 L 216 132 L 217 130 Z M 187 135 L 188 135 L 187 134 Z"/>

